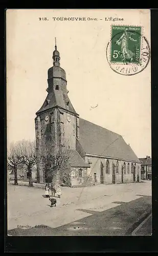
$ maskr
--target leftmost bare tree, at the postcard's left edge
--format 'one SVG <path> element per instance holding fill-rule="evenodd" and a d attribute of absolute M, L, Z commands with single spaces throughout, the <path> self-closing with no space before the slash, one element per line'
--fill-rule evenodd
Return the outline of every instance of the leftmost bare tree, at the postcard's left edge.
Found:
<path fill-rule="evenodd" d="M 24 158 L 21 155 L 20 142 L 12 142 L 7 154 L 8 169 L 14 172 L 14 185 L 17 183 L 17 166 L 22 163 Z"/>

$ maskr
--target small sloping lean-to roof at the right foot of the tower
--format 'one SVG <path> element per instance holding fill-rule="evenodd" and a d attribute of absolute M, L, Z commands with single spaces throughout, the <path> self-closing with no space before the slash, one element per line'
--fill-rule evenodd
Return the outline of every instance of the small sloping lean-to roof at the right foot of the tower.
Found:
<path fill-rule="evenodd" d="M 70 162 L 72 167 L 90 167 L 76 150 L 70 150 Z"/>

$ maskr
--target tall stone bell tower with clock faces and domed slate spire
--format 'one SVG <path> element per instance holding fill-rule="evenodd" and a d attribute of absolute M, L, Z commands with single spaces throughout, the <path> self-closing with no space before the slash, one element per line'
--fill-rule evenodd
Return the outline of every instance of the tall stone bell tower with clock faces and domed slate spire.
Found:
<path fill-rule="evenodd" d="M 44 168 L 39 156 L 46 146 L 46 140 L 51 139 L 52 146 L 64 146 L 76 150 L 76 140 L 79 140 L 79 115 L 76 113 L 67 90 L 66 73 L 60 67 L 60 54 L 53 51 L 53 66 L 48 70 L 48 95 L 41 108 L 36 112 L 36 155 L 37 182 L 47 182 Z"/>

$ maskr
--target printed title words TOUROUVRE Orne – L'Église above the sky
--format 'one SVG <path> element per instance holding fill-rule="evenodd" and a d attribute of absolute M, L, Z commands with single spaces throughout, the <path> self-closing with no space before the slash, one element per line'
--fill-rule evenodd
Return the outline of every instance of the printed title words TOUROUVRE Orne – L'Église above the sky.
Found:
<path fill-rule="evenodd" d="M 122 21 L 124 18 L 118 18 L 118 17 L 104 17 L 104 18 L 92 18 L 92 17 L 52 17 L 53 20 L 72 20 L 72 21 L 90 21 L 90 20 L 105 20 L 105 21 L 111 21 L 111 22 L 117 22 L 117 21 Z"/>

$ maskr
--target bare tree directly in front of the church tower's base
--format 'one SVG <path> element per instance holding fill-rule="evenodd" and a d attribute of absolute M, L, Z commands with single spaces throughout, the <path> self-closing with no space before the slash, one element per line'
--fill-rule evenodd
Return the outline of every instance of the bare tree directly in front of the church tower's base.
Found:
<path fill-rule="evenodd" d="M 52 140 L 46 141 L 42 148 L 41 162 L 45 170 L 45 177 L 57 182 L 63 173 L 69 177 L 71 170 L 71 151 L 65 146 L 53 146 Z"/>

